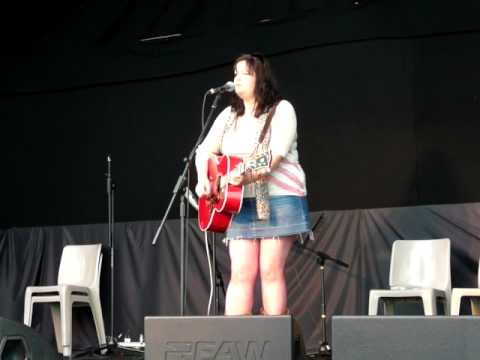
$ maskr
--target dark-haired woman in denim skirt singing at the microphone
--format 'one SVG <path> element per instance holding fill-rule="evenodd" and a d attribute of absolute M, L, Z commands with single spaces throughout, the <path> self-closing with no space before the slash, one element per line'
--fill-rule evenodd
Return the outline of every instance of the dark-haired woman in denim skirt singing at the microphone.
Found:
<path fill-rule="evenodd" d="M 233 72 L 231 106 L 218 115 L 197 150 L 196 192 L 210 195 L 210 156 L 271 153 L 268 171 L 253 170 L 230 179 L 245 190 L 242 209 L 226 234 L 231 279 L 225 315 L 252 314 L 258 273 L 262 313 L 282 315 L 288 312 L 285 262 L 294 240 L 310 230 L 305 174 L 298 161 L 297 118 L 292 104 L 281 98 L 264 57 L 242 55 Z"/>

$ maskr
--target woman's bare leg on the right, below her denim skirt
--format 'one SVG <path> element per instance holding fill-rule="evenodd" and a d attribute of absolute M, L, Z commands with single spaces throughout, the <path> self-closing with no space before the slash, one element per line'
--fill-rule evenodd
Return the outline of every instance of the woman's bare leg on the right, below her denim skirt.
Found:
<path fill-rule="evenodd" d="M 294 237 L 264 239 L 260 243 L 260 274 L 265 314 L 287 313 L 285 262 L 294 239 Z"/>

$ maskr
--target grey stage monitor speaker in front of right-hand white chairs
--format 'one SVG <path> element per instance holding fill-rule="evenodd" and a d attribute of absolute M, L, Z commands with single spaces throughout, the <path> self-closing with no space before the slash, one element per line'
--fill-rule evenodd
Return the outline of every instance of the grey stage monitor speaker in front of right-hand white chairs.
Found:
<path fill-rule="evenodd" d="M 480 317 L 334 316 L 335 360 L 477 360 Z"/>

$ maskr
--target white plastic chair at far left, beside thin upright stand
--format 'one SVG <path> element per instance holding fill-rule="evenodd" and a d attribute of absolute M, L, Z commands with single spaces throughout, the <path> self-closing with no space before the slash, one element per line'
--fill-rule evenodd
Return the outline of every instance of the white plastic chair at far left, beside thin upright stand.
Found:
<path fill-rule="evenodd" d="M 100 346 L 106 344 L 102 306 L 100 304 L 100 270 L 102 245 L 68 245 L 63 248 L 58 285 L 29 286 L 25 291 L 23 322 L 32 324 L 35 303 L 51 306 L 57 349 L 63 356 L 72 354 L 72 307 L 90 306 Z"/>

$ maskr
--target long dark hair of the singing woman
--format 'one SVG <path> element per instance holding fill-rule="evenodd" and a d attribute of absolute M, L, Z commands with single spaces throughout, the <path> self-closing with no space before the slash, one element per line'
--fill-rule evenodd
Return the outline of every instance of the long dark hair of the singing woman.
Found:
<path fill-rule="evenodd" d="M 272 74 L 270 63 L 262 55 L 244 54 L 239 56 L 233 63 L 234 72 L 240 61 L 245 61 L 249 70 L 253 71 L 256 75 L 255 100 L 257 104 L 255 107 L 255 116 L 259 117 L 282 99 L 278 91 L 277 82 Z M 236 93 L 233 93 L 231 106 L 237 116 L 245 113 L 243 100 L 240 99 Z"/>

